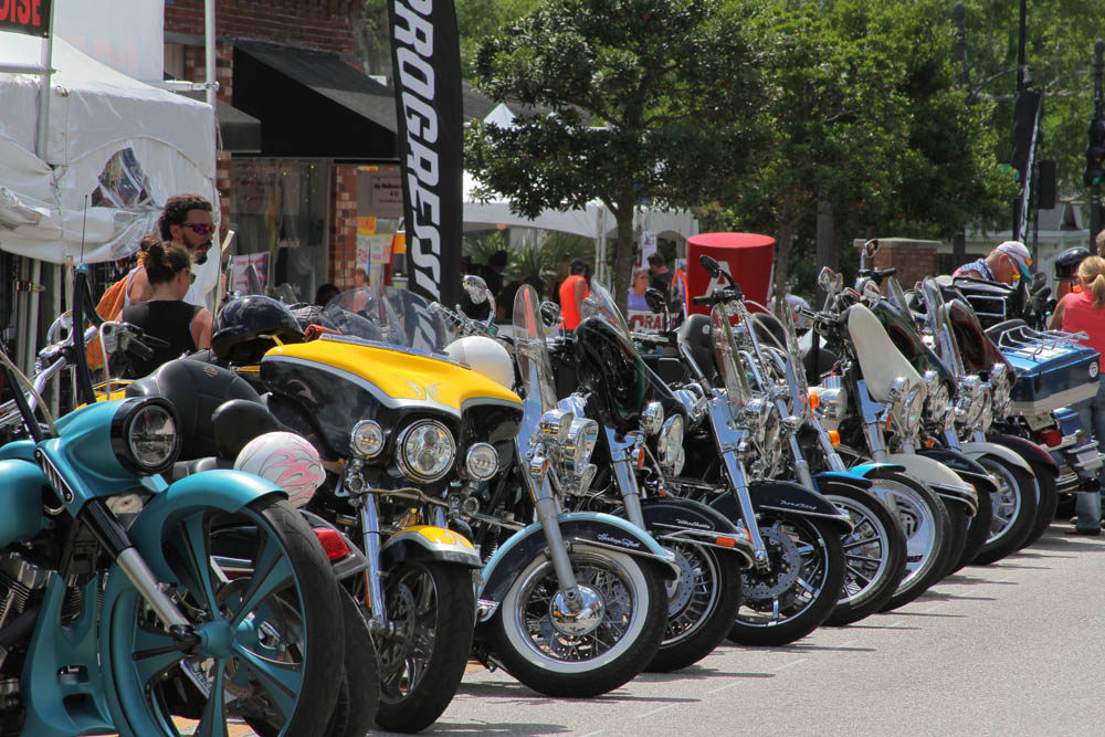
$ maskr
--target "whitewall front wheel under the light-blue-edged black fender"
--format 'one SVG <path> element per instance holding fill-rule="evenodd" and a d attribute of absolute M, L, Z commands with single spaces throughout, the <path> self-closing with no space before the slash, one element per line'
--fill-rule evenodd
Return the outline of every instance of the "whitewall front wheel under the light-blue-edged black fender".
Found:
<path fill-rule="evenodd" d="M 569 698 L 598 696 L 644 670 L 660 649 L 667 594 L 659 570 L 633 556 L 586 543 L 568 554 L 580 587 L 601 601 L 597 621 L 551 614 L 559 582 L 537 556 L 515 579 L 491 622 L 493 654 L 534 691 Z"/>

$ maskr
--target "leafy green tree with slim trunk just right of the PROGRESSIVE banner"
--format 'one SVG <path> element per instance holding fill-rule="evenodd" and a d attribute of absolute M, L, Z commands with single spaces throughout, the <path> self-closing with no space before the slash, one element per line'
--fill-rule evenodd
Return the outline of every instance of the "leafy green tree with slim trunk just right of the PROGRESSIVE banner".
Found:
<path fill-rule="evenodd" d="M 717 199 L 762 127 L 755 6 L 717 0 L 546 0 L 481 46 L 477 87 L 552 110 L 474 125 L 465 166 L 535 217 L 601 200 L 613 213 L 613 287 L 624 299 L 642 202 Z"/>

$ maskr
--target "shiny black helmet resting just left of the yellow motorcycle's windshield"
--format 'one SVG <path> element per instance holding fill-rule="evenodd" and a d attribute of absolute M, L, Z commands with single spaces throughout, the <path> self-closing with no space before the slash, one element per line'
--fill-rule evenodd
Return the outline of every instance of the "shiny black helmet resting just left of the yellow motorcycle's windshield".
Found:
<path fill-rule="evenodd" d="M 259 364 L 265 351 L 276 345 L 262 336 L 276 336 L 281 343 L 301 343 L 303 330 L 284 303 L 251 294 L 232 301 L 219 312 L 211 349 L 231 364 Z"/>

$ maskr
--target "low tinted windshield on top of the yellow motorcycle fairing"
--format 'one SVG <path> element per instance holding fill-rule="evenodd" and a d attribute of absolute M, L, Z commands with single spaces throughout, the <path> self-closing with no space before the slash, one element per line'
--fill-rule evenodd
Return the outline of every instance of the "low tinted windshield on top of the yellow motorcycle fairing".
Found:
<path fill-rule="evenodd" d="M 452 335 L 432 303 L 393 286 L 343 292 L 323 309 L 324 327 L 399 348 L 442 352 Z"/>

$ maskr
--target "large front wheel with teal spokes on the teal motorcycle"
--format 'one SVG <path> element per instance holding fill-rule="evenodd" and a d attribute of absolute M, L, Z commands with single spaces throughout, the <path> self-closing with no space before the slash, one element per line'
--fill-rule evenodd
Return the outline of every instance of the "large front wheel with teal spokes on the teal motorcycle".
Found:
<path fill-rule="evenodd" d="M 177 579 L 162 583 L 201 643 L 186 657 L 129 585 L 110 600 L 104 665 L 119 733 L 175 736 L 181 713 L 199 719 L 197 734 L 227 734 L 232 719 L 282 736 L 325 725 L 338 695 L 330 676 L 344 632 L 332 618 L 340 603 L 299 514 L 275 497 L 238 513 L 182 509 L 162 548 Z M 110 578 L 125 580 L 118 570 Z"/>

